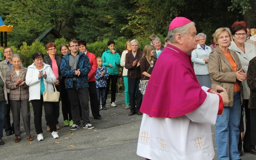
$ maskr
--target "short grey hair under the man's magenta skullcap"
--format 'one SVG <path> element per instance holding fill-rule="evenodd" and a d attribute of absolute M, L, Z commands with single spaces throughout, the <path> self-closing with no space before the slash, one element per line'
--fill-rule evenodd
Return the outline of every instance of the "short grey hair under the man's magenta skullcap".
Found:
<path fill-rule="evenodd" d="M 189 31 L 188 29 L 192 26 L 195 26 L 195 22 L 187 23 L 184 26 L 174 28 L 170 31 L 168 31 L 167 39 L 170 43 L 177 43 L 176 41 L 176 34 L 180 33 L 182 36 L 187 36 Z"/>

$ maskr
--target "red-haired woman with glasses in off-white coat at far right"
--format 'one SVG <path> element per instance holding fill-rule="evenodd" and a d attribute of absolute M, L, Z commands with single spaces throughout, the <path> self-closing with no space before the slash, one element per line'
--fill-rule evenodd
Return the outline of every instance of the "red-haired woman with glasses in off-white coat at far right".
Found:
<path fill-rule="evenodd" d="M 241 65 L 245 73 L 247 73 L 249 62 L 256 56 L 256 47 L 253 44 L 245 43 L 246 41 L 246 34 L 247 29 L 244 26 L 243 21 L 236 21 L 232 25 L 232 37 L 233 41 L 229 49 L 232 49 L 238 55 Z M 245 23 L 246 25 L 246 23 Z M 251 123 L 254 122 L 250 121 L 250 109 L 248 109 L 248 102 L 250 98 L 250 88 L 248 87 L 247 80 L 242 82 L 243 84 L 243 98 L 244 98 L 244 105 L 241 106 L 241 111 L 245 111 L 245 118 L 246 118 L 246 131 L 243 138 L 243 149 L 245 152 L 250 152 L 252 154 L 256 154 L 255 146 L 251 144 Z M 241 113 L 242 116 L 242 113 Z M 240 132 L 243 133 L 243 119 L 241 117 L 241 127 Z M 238 150 L 242 155 L 242 141 L 239 140 Z"/>

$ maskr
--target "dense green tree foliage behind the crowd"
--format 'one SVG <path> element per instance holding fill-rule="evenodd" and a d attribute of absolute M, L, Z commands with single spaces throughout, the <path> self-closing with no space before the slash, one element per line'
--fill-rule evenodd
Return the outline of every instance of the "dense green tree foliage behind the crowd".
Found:
<path fill-rule="evenodd" d="M 254 14 L 255 1 L 2 0 L 0 15 L 6 25 L 14 26 L 8 42 L 17 47 L 23 42 L 31 45 L 48 28 L 54 28 L 67 41 L 76 38 L 94 43 L 125 37 L 149 43 L 151 34 L 167 35 L 176 15 L 193 20 L 197 31 L 208 37 L 219 27 L 230 28 L 236 20 L 250 23 L 253 19 L 246 16 Z M 55 40 L 47 38 L 47 42 Z M 210 38 L 207 43 L 211 43 Z"/>

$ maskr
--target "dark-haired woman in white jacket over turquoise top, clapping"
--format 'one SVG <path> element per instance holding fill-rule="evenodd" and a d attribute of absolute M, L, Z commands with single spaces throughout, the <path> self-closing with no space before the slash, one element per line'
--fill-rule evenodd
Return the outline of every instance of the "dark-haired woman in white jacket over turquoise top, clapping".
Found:
<path fill-rule="evenodd" d="M 54 92 L 53 82 L 56 77 L 50 65 L 43 63 L 43 54 L 35 52 L 33 54 L 34 63 L 28 66 L 26 75 L 26 84 L 29 86 L 29 101 L 31 101 L 34 110 L 34 124 L 37 132 L 38 141 L 43 141 L 42 130 L 42 108 L 44 105 L 45 117 L 48 120 L 50 131 L 54 139 L 59 138 L 57 128 L 55 125 L 55 118 L 53 114 L 54 102 L 44 102 L 43 92 L 46 89 L 47 83 L 48 92 Z"/>

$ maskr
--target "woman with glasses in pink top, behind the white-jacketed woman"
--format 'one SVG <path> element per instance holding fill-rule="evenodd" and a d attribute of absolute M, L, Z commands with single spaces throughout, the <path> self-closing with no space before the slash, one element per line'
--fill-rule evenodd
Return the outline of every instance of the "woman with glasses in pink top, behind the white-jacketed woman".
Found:
<path fill-rule="evenodd" d="M 63 85 L 62 76 L 61 76 L 60 69 L 59 69 L 61 58 L 59 56 L 56 56 L 56 45 L 54 43 L 52 43 L 52 42 L 47 43 L 46 46 L 45 46 L 45 49 L 46 49 L 46 52 L 48 53 L 49 56 L 44 58 L 44 63 L 51 66 L 51 68 L 53 70 L 53 73 L 56 77 L 56 81 L 54 82 L 54 85 L 55 85 L 57 91 L 61 93 L 61 88 L 62 88 L 62 85 Z M 60 101 L 60 99 L 59 99 L 59 101 Z M 58 118 L 59 118 L 59 101 L 54 102 L 54 109 L 53 109 L 57 130 L 60 129 L 59 128 L 59 121 L 58 121 Z M 47 118 L 45 118 L 45 121 L 46 121 L 46 129 L 49 132 L 50 128 L 49 128 L 49 125 L 48 125 Z"/>

